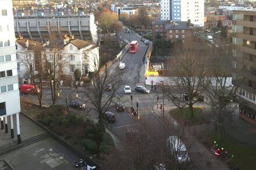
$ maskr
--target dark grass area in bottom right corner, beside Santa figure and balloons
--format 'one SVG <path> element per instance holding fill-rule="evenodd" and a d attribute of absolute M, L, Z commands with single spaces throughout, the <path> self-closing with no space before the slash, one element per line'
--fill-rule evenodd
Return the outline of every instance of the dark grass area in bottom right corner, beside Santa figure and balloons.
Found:
<path fill-rule="evenodd" d="M 210 148 L 214 145 L 214 141 L 218 143 L 219 148 L 227 151 L 227 157 L 230 160 L 230 165 L 234 169 L 255 169 L 256 167 L 256 146 L 247 146 L 246 144 L 234 143 L 232 140 L 224 136 L 219 139 L 219 133 L 217 131 L 204 132 L 200 136 L 202 142 L 207 144 Z M 231 158 L 232 154 L 234 155 Z"/>

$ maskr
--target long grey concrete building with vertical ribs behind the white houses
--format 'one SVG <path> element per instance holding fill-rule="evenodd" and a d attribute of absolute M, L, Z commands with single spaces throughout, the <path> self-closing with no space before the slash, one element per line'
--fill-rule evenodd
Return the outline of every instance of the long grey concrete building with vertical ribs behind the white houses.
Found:
<path fill-rule="evenodd" d="M 51 31 L 73 35 L 74 39 L 98 41 L 94 15 L 81 16 L 19 16 L 15 17 L 15 35 L 23 39 L 46 42 Z"/>

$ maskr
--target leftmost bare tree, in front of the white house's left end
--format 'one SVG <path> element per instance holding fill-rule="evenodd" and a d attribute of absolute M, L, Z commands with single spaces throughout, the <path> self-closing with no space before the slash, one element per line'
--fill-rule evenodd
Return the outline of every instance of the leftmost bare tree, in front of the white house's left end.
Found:
<path fill-rule="evenodd" d="M 37 98 L 39 107 L 42 108 L 42 45 L 34 46 L 32 50 L 25 49 L 24 57 L 21 57 L 22 63 L 27 68 L 27 73 L 30 75 L 31 84 L 34 85 L 34 91 L 37 92 Z M 30 55 L 33 53 L 34 59 L 31 59 Z M 39 86 L 35 82 L 35 79 L 39 79 Z"/>

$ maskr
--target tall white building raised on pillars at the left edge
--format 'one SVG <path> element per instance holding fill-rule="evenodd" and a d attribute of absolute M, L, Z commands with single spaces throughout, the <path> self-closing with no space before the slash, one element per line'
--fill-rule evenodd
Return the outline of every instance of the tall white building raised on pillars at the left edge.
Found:
<path fill-rule="evenodd" d="M 13 27 L 12 1 L 0 1 L 0 119 L 1 131 L 14 138 L 13 115 L 16 117 L 17 141 L 21 143 L 19 112 L 20 95 L 17 75 L 15 32 Z M 3 122 L 4 120 L 4 122 Z M 5 124 L 5 126 L 3 126 Z"/>

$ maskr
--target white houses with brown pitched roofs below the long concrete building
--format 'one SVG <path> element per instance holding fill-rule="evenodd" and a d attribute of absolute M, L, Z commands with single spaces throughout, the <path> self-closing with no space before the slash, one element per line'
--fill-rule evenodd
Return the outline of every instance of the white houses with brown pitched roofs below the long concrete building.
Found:
<path fill-rule="evenodd" d="M 27 72 L 29 69 L 33 69 L 37 74 L 37 64 L 35 60 L 34 49 L 36 46 L 44 46 L 42 55 L 47 56 L 48 62 L 51 64 L 52 70 L 54 68 L 54 56 L 61 57 L 61 63 L 63 63 L 63 74 L 72 76 L 74 70 L 79 68 L 81 73 L 87 74 L 88 72 L 94 72 L 95 67 L 99 66 L 99 48 L 88 41 L 81 39 L 74 39 L 67 42 L 58 42 L 58 50 L 54 55 L 54 48 L 51 43 L 47 41 L 46 44 L 41 44 L 37 41 L 30 41 L 21 39 L 16 41 L 16 58 L 17 58 L 17 70 L 20 78 L 29 78 Z M 44 60 L 42 60 L 44 62 Z M 58 70 L 58 68 L 57 68 Z"/>

